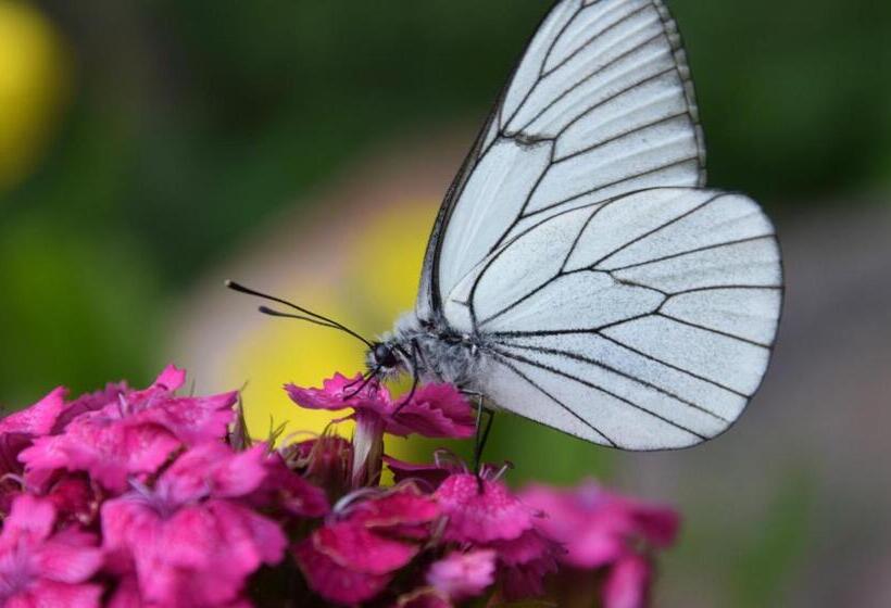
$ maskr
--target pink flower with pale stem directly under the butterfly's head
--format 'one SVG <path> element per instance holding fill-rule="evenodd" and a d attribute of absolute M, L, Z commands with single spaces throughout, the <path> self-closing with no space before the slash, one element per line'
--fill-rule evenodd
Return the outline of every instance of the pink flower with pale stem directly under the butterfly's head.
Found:
<path fill-rule="evenodd" d="M 376 484 L 384 455 L 384 433 L 405 436 L 418 433 L 429 438 L 468 438 L 476 431 L 476 419 L 467 400 L 451 384 L 427 384 L 411 398 L 393 401 L 377 381 L 352 380 L 336 373 L 321 389 L 286 384 L 291 401 L 310 409 L 352 408 L 344 419 L 355 420 L 352 485 Z"/>

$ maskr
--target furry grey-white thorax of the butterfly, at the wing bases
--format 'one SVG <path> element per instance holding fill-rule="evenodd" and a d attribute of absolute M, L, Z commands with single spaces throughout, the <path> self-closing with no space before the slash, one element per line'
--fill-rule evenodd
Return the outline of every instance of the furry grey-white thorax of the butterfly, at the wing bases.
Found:
<path fill-rule="evenodd" d="M 443 321 L 422 321 L 414 312 L 399 317 L 393 330 L 381 337 L 388 345 L 398 345 L 405 353 L 416 353 L 418 376 L 424 381 L 451 382 L 477 391 L 477 379 L 484 372 L 485 357 L 478 337 L 462 334 Z M 403 369 L 411 371 L 412 360 L 400 355 Z"/>

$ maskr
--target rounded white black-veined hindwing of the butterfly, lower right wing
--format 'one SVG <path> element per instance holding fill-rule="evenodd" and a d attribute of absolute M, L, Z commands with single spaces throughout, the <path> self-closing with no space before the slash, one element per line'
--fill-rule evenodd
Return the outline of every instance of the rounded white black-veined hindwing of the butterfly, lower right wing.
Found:
<path fill-rule="evenodd" d="M 444 312 L 485 340 L 479 388 L 501 407 L 605 445 L 682 447 L 724 431 L 757 389 L 781 284 L 756 203 L 657 188 L 543 220 Z"/>

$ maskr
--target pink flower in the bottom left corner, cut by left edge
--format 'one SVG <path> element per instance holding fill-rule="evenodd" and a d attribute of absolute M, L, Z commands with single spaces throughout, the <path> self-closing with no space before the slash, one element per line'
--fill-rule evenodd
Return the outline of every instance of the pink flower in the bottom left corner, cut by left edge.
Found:
<path fill-rule="evenodd" d="M 0 534 L 0 605 L 99 606 L 102 588 L 88 582 L 102 566 L 93 536 L 75 529 L 53 534 L 54 523 L 50 502 L 15 498 Z"/>

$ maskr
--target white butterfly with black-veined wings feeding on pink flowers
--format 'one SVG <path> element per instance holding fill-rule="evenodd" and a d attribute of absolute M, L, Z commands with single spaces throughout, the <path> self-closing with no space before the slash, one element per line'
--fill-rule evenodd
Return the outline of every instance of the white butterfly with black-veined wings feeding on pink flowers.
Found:
<path fill-rule="evenodd" d="M 719 434 L 767 368 L 782 271 L 757 203 L 705 189 L 704 162 L 663 3 L 559 1 L 446 195 L 415 311 L 365 341 L 369 377 L 613 447 Z"/>

